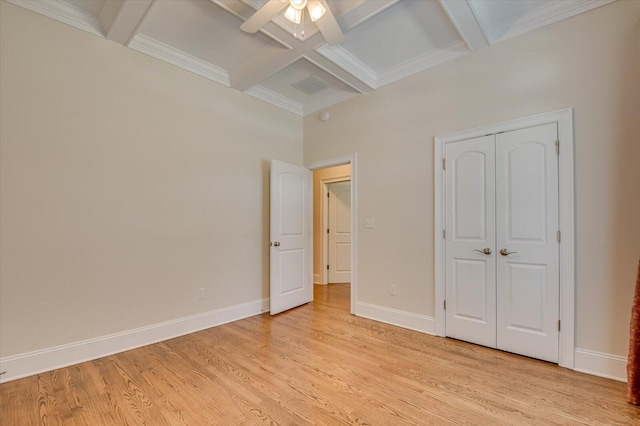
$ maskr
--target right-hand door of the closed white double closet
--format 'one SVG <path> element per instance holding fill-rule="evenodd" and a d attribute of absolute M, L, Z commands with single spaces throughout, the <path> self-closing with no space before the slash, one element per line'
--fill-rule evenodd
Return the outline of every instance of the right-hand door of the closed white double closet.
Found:
<path fill-rule="evenodd" d="M 557 125 L 496 135 L 497 347 L 558 362 Z"/>

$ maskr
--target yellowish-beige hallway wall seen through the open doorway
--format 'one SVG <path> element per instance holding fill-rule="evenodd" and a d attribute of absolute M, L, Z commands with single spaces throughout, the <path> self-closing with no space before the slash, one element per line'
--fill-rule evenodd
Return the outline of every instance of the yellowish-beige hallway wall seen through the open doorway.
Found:
<path fill-rule="evenodd" d="M 329 167 L 327 169 L 314 170 L 313 172 L 313 282 L 326 284 L 323 280 L 323 272 L 326 262 L 323 262 L 324 252 L 324 227 L 322 226 L 324 181 L 338 182 L 351 179 L 351 166 Z"/>

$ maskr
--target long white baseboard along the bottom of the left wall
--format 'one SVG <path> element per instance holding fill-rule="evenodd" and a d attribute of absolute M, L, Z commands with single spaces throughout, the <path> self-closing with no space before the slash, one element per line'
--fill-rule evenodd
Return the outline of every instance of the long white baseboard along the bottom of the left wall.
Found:
<path fill-rule="evenodd" d="M 268 311 L 269 299 L 256 300 L 94 339 L 0 358 L 0 371 L 6 371 L 0 376 L 0 383 L 91 361 Z"/>

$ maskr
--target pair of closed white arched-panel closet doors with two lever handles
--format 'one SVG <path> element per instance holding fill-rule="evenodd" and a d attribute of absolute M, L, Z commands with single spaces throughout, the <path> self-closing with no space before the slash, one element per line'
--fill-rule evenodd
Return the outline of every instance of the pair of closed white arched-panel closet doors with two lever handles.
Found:
<path fill-rule="evenodd" d="M 557 133 L 446 144 L 447 336 L 558 362 Z"/>

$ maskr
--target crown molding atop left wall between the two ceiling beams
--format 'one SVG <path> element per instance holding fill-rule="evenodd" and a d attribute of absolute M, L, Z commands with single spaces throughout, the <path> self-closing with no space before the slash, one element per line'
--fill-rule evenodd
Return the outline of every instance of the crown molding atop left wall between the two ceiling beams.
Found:
<path fill-rule="evenodd" d="M 129 43 L 129 47 L 186 71 L 198 74 L 201 77 L 215 81 L 216 83 L 230 87 L 229 73 L 227 71 L 149 36 L 143 34 L 136 35 L 133 40 L 131 40 L 131 43 Z"/>

